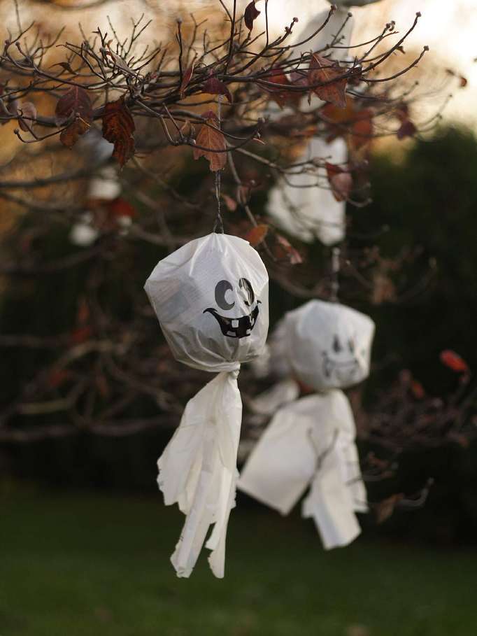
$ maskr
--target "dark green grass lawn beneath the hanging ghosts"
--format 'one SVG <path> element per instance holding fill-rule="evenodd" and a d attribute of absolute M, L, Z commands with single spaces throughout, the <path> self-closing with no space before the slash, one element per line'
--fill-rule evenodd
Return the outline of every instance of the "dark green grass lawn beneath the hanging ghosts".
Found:
<path fill-rule="evenodd" d="M 177 579 L 161 497 L 0 497 L 0 636 L 475 636 L 477 551 L 325 552 L 311 523 L 242 506 L 227 571 Z"/>

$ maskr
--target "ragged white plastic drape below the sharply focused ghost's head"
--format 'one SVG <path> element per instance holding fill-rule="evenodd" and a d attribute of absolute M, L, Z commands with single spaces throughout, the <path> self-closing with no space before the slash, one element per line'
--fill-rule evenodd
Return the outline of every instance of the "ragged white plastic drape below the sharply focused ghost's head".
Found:
<path fill-rule="evenodd" d="M 235 504 L 236 458 L 242 418 L 237 372 L 222 372 L 192 397 L 180 425 L 157 462 L 157 483 L 166 505 L 186 515 L 171 562 L 178 577 L 189 577 L 209 526 L 206 547 L 216 577 L 224 576 L 225 538 Z"/>

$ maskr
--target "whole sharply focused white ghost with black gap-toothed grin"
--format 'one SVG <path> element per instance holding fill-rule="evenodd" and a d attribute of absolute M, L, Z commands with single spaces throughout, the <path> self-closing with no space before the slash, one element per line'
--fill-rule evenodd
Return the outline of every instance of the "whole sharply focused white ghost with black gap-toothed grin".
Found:
<path fill-rule="evenodd" d="M 262 260 L 247 241 L 214 233 L 159 261 L 145 283 L 174 358 L 218 372 L 187 403 L 157 462 L 164 502 L 177 503 L 186 515 L 171 556 L 178 577 L 190 576 L 211 524 L 209 563 L 216 577 L 224 576 L 238 478 L 242 403 L 237 376 L 241 362 L 264 348 L 268 282 Z"/>

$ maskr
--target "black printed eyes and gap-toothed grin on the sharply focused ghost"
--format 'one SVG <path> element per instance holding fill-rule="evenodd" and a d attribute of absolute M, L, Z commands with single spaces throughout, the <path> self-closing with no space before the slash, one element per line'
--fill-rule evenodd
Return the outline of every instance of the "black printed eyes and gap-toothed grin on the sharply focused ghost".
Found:
<path fill-rule="evenodd" d="M 215 302 L 222 312 L 232 313 L 231 316 L 224 316 L 213 307 L 204 309 L 204 313 L 211 313 L 217 320 L 222 334 L 229 338 L 250 336 L 257 323 L 260 301 L 255 301 L 255 292 L 247 278 L 240 278 L 235 288 L 230 281 L 219 281 L 215 285 Z M 238 304 L 244 304 L 247 309 L 250 309 L 250 313 L 234 316 L 233 310 Z"/>

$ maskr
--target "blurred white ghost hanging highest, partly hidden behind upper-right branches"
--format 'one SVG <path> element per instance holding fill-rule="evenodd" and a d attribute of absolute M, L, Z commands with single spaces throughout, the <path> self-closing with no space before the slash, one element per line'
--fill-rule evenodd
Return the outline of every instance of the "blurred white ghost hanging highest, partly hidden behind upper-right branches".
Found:
<path fill-rule="evenodd" d="M 319 52 L 330 48 L 323 55 L 330 55 L 336 62 L 348 59 L 348 47 L 355 19 L 348 15 L 350 6 L 362 6 L 376 2 L 376 0 L 350 0 L 334 2 L 337 5 L 334 13 L 324 28 L 320 30 L 329 15 L 329 9 L 320 11 L 306 24 L 304 29 L 294 38 L 294 56 L 306 55 L 310 50 Z M 313 36 L 315 31 L 319 31 Z M 334 46 L 336 48 L 334 48 Z M 320 53 L 321 55 L 321 53 Z M 301 65 L 306 71 L 309 62 Z M 343 69 L 344 70 L 344 69 Z M 311 95 L 310 104 L 302 99 L 301 111 L 314 111 L 325 104 L 315 94 Z M 273 115 L 277 116 L 278 108 Z M 343 166 L 348 160 L 346 142 L 339 137 L 326 143 L 324 139 L 313 138 L 308 141 L 304 152 L 297 157 L 297 163 L 314 158 L 325 160 L 334 165 Z M 346 232 L 345 227 L 346 202 L 336 201 L 329 187 L 327 176 L 322 174 L 287 175 L 278 179 L 271 188 L 266 204 L 266 212 L 273 221 L 288 234 L 307 243 L 319 239 L 325 245 L 334 245 L 342 241 Z"/>

